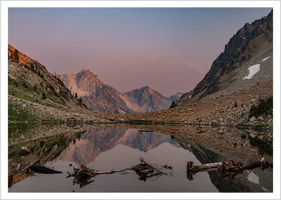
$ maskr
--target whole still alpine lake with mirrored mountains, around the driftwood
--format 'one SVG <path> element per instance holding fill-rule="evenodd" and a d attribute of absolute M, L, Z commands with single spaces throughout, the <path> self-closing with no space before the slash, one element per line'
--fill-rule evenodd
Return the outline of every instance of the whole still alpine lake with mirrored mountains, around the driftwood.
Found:
<path fill-rule="evenodd" d="M 219 169 L 191 175 L 187 172 L 189 161 L 201 165 L 231 159 L 247 164 L 251 157 L 273 163 L 272 130 L 203 125 L 10 123 L 8 133 L 9 193 L 273 192 L 273 167 L 239 173 Z M 22 147 L 30 153 L 24 153 Z M 164 173 L 126 169 L 138 165 L 140 158 Z M 62 173 L 24 169 L 32 163 Z M 95 171 L 126 170 L 79 180 L 67 173 L 75 173 L 74 166 L 81 164 Z"/>

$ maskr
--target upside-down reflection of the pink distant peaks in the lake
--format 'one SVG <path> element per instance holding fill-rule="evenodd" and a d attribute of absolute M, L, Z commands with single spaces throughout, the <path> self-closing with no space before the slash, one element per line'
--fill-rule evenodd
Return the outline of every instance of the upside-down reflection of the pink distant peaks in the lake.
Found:
<path fill-rule="evenodd" d="M 160 144 L 168 142 L 181 147 L 171 136 L 157 132 L 140 134 L 137 129 L 122 127 L 103 127 L 85 131 L 79 140 L 73 141 L 58 157 L 62 161 L 88 164 L 102 152 L 109 151 L 118 144 L 147 152 Z"/>

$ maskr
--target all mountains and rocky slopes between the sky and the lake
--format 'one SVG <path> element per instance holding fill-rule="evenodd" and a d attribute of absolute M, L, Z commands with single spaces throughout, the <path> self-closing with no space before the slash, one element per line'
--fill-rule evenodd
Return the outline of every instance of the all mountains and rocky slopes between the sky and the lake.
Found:
<path fill-rule="evenodd" d="M 252 24 L 245 24 L 194 90 L 170 97 L 148 86 L 119 93 L 89 70 L 50 74 L 38 61 L 8 45 L 8 120 L 214 124 L 272 129 L 272 108 L 266 114 L 250 116 L 254 105 L 273 96 L 272 21 L 273 10 Z M 85 96 L 75 98 L 76 91 Z"/>

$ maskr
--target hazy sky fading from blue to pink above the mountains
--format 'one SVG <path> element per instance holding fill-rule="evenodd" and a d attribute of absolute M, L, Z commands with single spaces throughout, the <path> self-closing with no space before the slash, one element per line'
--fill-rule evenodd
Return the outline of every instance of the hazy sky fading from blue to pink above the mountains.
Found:
<path fill-rule="evenodd" d="M 51 73 L 89 69 L 119 92 L 171 96 L 194 89 L 229 39 L 271 9 L 9 8 L 8 43 Z"/>

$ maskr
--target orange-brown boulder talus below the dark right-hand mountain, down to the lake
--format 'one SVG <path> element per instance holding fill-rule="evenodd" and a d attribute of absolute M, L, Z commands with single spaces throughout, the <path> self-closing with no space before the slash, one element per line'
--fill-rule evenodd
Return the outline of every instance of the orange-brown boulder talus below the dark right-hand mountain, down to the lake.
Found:
<path fill-rule="evenodd" d="M 257 82 L 229 94 L 216 96 L 197 103 L 154 112 L 130 114 L 105 114 L 107 119 L 116 121 L 148 121 L 157 123 L 247 125 L 272 128 L 273 116 L 264 115 L 249 119 L 249 110 L 257 105 L 259 97 L 273 96 L 273 79 Z M 233 107 L 234 104 L 237 107 Z"/>

